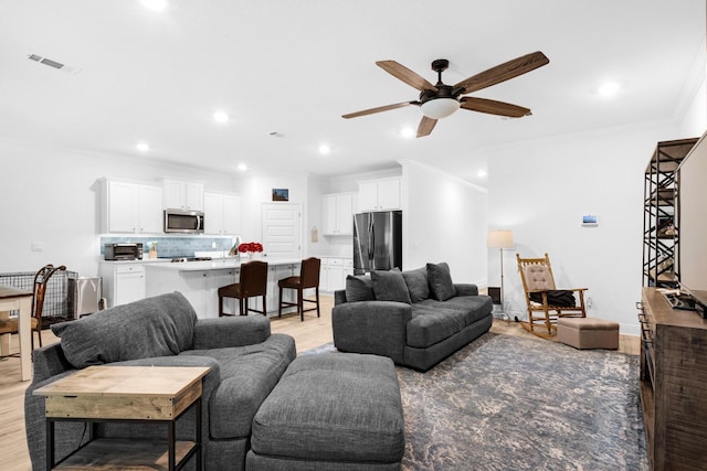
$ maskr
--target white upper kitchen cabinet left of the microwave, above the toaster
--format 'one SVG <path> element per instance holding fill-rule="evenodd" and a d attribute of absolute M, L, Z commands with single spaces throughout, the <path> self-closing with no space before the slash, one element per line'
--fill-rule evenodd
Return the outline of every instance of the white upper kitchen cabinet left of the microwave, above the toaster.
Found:
<path fill-rule="evenodd" d="M 162 232 L 162 189 L 141 183 L 102 180 L 101 229 L 104 233 Z"/>

